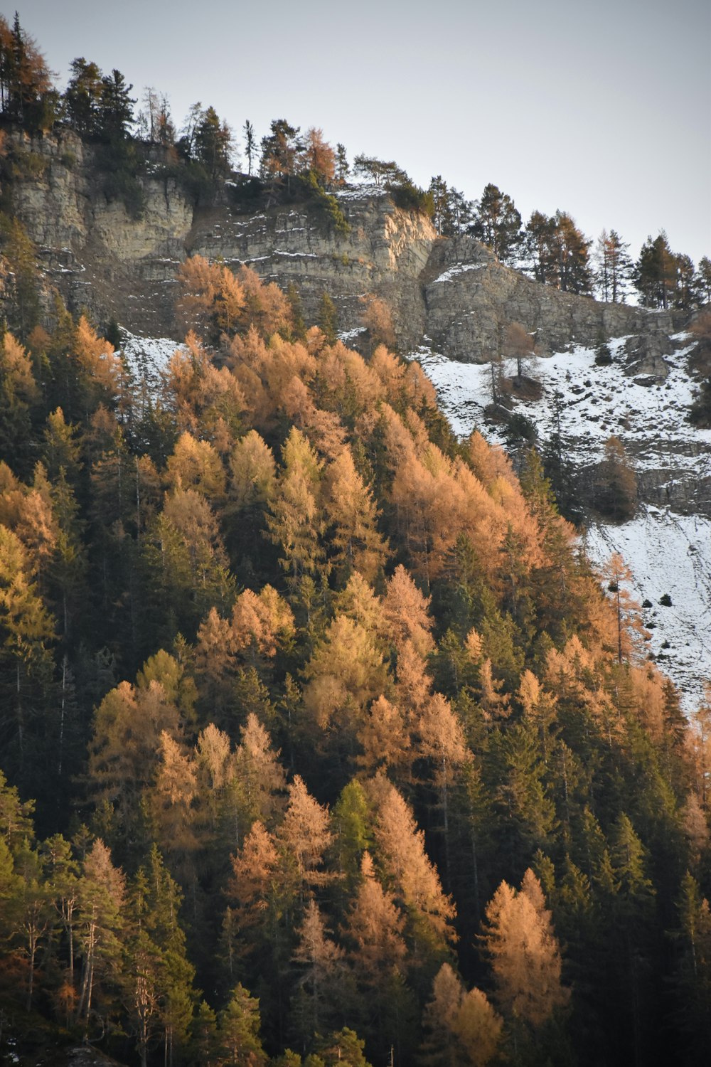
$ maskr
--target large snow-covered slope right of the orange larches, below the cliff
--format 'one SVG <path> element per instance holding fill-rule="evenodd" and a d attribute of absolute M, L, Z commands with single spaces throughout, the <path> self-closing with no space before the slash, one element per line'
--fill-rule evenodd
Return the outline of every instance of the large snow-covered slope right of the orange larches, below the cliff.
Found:
<path fill-rule="evenodd" d="M 643 609 L 652 635 L 650 651 L 682 689 L 684 707 L 691 711 L 704 680 L 711 680 L 711 520 L 693 511 L 691 498 L 694 488 L 709 478 L 711 430 L 697 430 L 686 420 L 694 391 L 686 372 L 691 346 L 682 336 L 676 339 L 681 347 L 665 357 L 666 380 L 652 385 L 624 372 L 624 337 L 610 343 L 611 366 L 597 366 L 594 350 L 581 347 L 539 360 L 535 377 L 543 396 L 517 400 L 515 410 L 531 419 L 540 439 L 560 423 L 566 453 L 577 467 L 598 462 L 614 433 L 637 473 L 658 473 L 662 495 L 683 481 L 688 492 L 681 495 L 690 497 L 684 510 L 691 513 L 643 504 L 631 522 L 592 525 L 585 544 L 594 566 L 619 552 L 632 569 L 636 600 L 651 604 Z M 503 443 L 505 428 L 486 424 L 484 416 L 491 402 L 490 365 L 457 363 L 430 349 L 413 355 L 432 379 L 457 434 L 478 428 L 489 441 Z M 665 594 L 670 606 L 660 604 Z"/>

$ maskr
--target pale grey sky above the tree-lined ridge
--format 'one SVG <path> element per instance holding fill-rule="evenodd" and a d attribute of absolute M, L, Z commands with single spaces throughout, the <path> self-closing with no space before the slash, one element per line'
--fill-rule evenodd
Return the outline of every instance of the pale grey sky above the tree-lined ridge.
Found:
<path fill-rule="evenodd" d="M 12 7 L 12 10 L 11 10 Z M 711 257 L 708 0 L 15 0 L 64 87 L 82 55 L 167 94 L 178 127 L 211 105 L 242 147 L 273 118 L 349 159 L 394 159 L 526 221 L 616 229 L 636 257 L 661 229 Z M 136 106 L 138 110 L 138 106 Z"/>

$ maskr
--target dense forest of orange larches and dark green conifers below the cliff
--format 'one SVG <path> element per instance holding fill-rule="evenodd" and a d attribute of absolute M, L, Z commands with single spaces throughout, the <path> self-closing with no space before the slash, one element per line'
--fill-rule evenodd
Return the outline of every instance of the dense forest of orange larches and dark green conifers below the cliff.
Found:
<path fill-rule="evenodd" d="M 180 268 L 157 394 L 13 275 L 0 1055 L 707 1063 L 711 706 L 535 450 L 249 268 Z"/>

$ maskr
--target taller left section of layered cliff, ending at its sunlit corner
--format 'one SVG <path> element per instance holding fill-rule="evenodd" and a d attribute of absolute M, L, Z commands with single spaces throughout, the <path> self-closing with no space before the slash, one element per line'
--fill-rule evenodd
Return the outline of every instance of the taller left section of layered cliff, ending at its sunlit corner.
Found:
<path fill-rule="evenodd" d="M 355 331 L 360 297 L 377 292 L 392 307 L 403 345 L 425 332 L 419 276 L 436 234 L 382 190 L 340 194 L 351 232 L 339 235 L 314 209 L 240 213 L 228 204 L 228 188 L 222 206 L 195 209 L 174 179 L 148 173 L 140 178 L 145 206 L 134 219 L 120 201 L 107 201 L 92 148 L 70 131 L 32 141 L 16 136 L 13 149 L 35 165 L 13 182 L 12 209 L 47 281 L 74 310 L 87 307 L 99 321 L 115 316 L 131 331 L 169 335 L 176 271 L 200 254 L 248 264 L 284 288 L 295 282 L 311 321 L 327 291 L 341 330 Z"/>

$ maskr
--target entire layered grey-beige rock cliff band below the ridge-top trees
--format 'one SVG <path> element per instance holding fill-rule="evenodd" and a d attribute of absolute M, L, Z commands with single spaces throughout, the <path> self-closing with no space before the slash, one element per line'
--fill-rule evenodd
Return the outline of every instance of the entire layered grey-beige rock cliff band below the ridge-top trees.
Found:
<path fill-rule="evenodd" d="M 355 336 L 360 298 L 374 292 L 393 312 L 403 350 L 424 339 L 452 359 L 481 363 L 499 350 L 503 331 L 520 322 L 544 352 L 601 337 L 637 339 L 639 375 L 664 376 L 663 355 L 678 322 L 668 314 L 600 304 L 537 285 L 502 267 L 473 238 L 438 238 L 426 219 L 398 209 L 374 187 L 338 194 L 351 230 L 329 228 L 313 207 L 240 213 L 225 203 L 194 209 L 174 179 L 141 177 L 145 208 L 132 219 L 108 202 L 91 147 L 71 132 L 14 148 L 41 160 L 13 184 L 13 210 L 36 243 L 48 281 L 72 309 L 99 321 L 112 315 L 145 334 L 175 331 L 175 273 L 188 255 L 248 264 L 286 288 L 295 282 L 307 320 L 324 291 L 342 332 Z M 149 168 L 150 170 L 150 168 Z"/>

